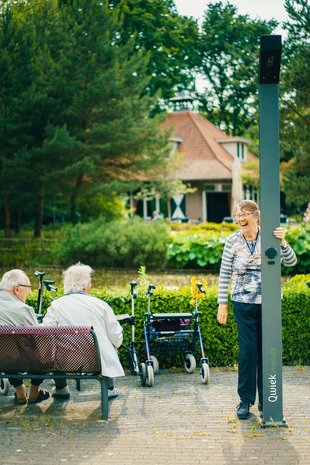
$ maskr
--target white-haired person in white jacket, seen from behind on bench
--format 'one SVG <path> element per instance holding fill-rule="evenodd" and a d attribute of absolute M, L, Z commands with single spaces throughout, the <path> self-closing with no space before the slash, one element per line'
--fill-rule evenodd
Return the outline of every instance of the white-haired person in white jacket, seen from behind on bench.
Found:
<path fill-rule="evenodd" d="M 76 264 L 63 273 L 64 296 L 52 302 L 43 318 L 44 326 L 92 326 L 96 332 L 101 354 L 102 374 L 109 378 L 109 398 L 117 397 L 114 378 L 124 376 L 116 349 L 123 342 L 123 329 L 112 308 L 89 294 L 93 270 Z M 55 381 L 52 396 L 70 396 L 67 380 Z"/>

